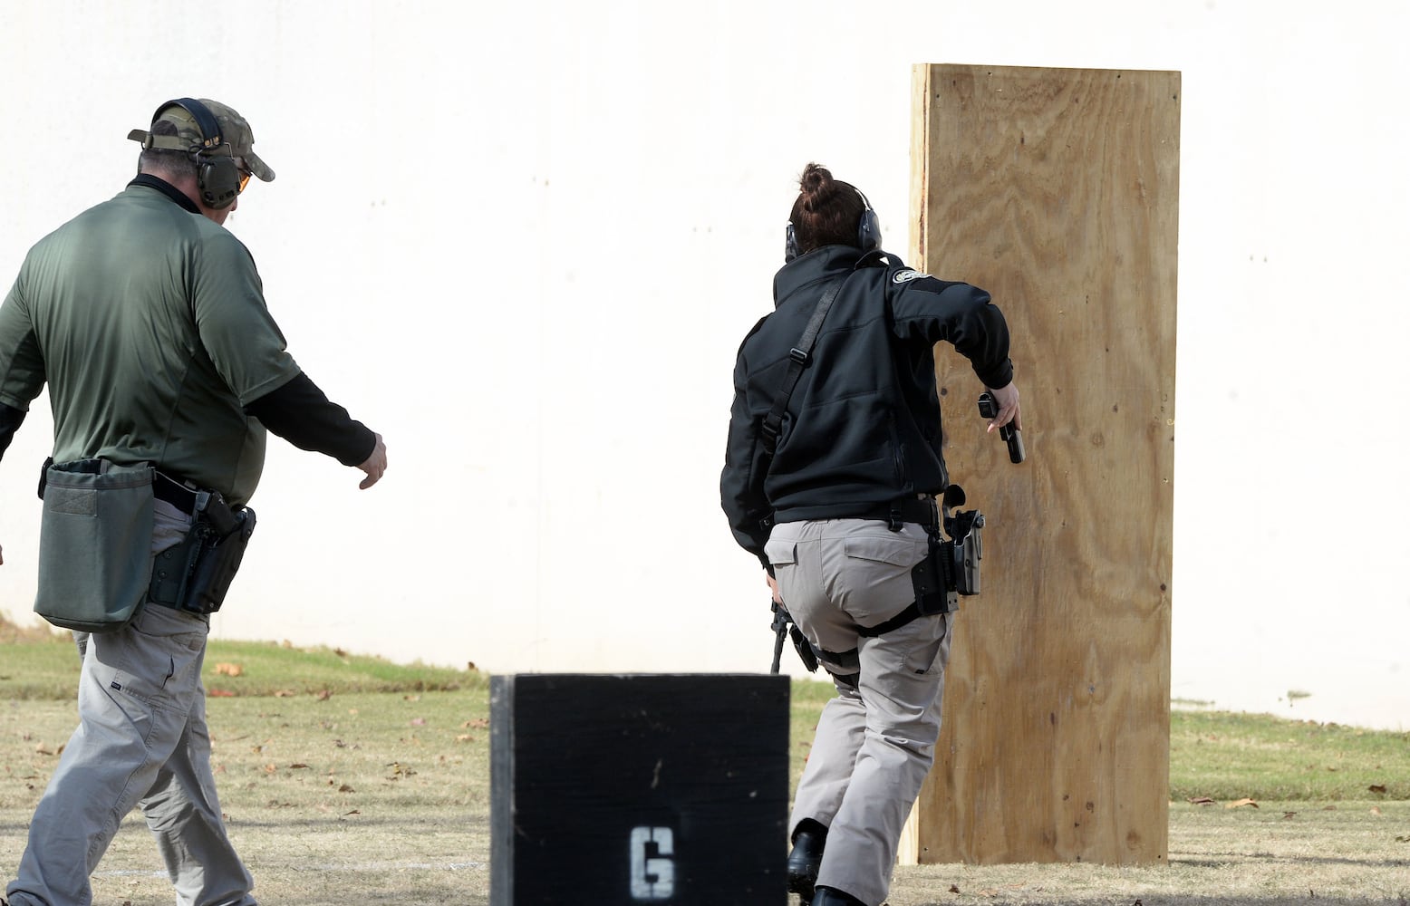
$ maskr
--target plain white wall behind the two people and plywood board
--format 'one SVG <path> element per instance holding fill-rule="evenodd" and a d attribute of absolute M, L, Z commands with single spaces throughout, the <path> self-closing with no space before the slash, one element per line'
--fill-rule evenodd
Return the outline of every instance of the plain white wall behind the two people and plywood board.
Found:
<path fill-rule="evenodd" d="M 716 486 L 802 165 L 863 186 L 904 251 L 912 63 L 1177 69 L 1175 695 L 1403 727 L 1410 14 L 1382 7 L 10 0 L 0 273 L 120 190 L 159 101 L 234 106 L 278 180 L 227 225 L 391 471 L 361 493 L 276 444 L 217 634 L 764 669 Z M 14 617 L 48 431 L 41 400 L 0 469 Z"/>

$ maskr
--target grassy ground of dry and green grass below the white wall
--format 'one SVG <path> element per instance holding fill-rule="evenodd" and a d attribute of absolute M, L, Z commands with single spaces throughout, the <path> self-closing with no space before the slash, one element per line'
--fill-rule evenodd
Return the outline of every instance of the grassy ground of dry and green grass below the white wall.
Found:
<path fill-rule="evenodd" d="M 0 621 L 0 829 L 13 829 L 0 833 L 0 881 L 73 730 L 76 679 L 70 641 L 7 635 Z M 486 676 L 213 641 L 204 679 L 221 809 L 261 902 L 489 903 Z M 830 696 L 829 683 L 792 683 L 794 782 Z M 1206 710 L 1170 720 L 1167 864 L 900 867 L 888 902 L 1407 902 L 1410 734 Z M 1218 805 L 1186 802 L 1198 798 Z M 1261 807 L 1224 807 L 1244 798 Z M 93 902 L 169 903 L 141 814 L 124 824 Z"/>

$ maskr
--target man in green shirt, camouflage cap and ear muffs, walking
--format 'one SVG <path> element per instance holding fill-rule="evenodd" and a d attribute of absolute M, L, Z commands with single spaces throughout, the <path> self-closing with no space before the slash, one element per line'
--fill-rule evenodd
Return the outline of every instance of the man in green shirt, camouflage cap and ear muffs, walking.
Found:
<path fill-rule="evenodd" d="M 251 178 L 274 179 L 248 123 L 188 97 L 128 137 L 142 142 L 138 176 L 41 240 L 0 306 L 0 455 L 48 385 L 55 462 L 158 469 L 154 557 L 189 530 L 192 488 L 250 500 L 266 430 L 361 469 L 371 488 L 386 469 L 382 437 L 289 356 L 254 259 L 223 227 Z M 80 726 L 35 810 L 10 906 L 87 905 L 89 876 L 137 806 L 179 906 L 254 906 L 210 772 L 207 631 L 209 616 L 149 599 L 123 630 L 75 633 Z"/>

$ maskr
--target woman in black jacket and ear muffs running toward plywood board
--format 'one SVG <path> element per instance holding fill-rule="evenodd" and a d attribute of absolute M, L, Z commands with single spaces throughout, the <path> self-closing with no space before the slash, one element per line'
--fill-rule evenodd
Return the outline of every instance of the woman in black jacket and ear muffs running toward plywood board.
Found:
<path fill-rule="evenodd" d="M 816 163 L 785 258 L 735 365 L 721 496 L 838 688 L 795 796 L 788 889 L 878 906 L 933 761 L 953 619 L 912 578 L 949 483 L 932 347 L 970 359 L 991 431 L 1018 428 L 1018 389 L 988 293 L 883 252 L 866 196 Z"/>

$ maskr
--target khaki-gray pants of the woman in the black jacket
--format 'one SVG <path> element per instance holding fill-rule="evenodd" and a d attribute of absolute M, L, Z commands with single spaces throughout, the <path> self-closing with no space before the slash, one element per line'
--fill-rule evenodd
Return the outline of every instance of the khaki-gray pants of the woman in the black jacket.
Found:
<path fill-rule="evenodd" d="M 905 819 L 935 759 L 950 652 L 950 617 L 918 617 L 857 635 L 915 600 L 911 568 L 925 559 L 925 528 L 857 519 L 780 523 L 766 548 L 780 596 L 809 641 L 856 661 L 819 659 L 833 674 L 790 827 L 828 827 L 818 885 L 878 906 Z M 953 616 L 953 614 L 950 614 Z"/>

